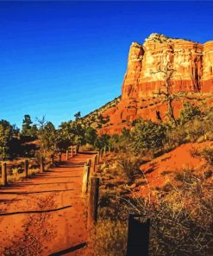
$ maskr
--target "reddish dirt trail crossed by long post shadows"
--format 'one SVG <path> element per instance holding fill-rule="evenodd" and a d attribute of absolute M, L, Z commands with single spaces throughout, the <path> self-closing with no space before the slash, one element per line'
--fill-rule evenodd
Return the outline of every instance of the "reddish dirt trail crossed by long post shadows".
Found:
<path fill-rule="evenodd" d="M 87 232 L 81 185 L 90 157 L 78 154 L 0 189 L 0 255 L 82 255 Z"/>

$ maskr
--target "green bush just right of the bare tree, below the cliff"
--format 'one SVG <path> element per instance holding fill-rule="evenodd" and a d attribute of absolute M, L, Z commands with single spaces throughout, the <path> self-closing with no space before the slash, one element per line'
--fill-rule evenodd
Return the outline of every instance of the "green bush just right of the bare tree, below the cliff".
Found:
<path fill-rule="evenodd" d="M 199 107 L 192 105 L 191 102 L 185 102 L 184 106 L 185 108 L 179 112 L 180 125 L 184 125 L 186 122 L 201 115 Z"/>

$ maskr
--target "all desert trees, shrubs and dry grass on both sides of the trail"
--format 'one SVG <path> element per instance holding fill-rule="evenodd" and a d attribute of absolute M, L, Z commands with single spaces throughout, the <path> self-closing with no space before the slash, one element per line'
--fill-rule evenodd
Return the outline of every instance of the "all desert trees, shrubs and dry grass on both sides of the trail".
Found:
<path fill-rule="evenodd" d="M 102 181 L 98 221 L 91 229 L 88 253 L 124 255 L 128 214 L 141 214 L 151 219 L 150 255 L 212 254 L 212 107 L 189 101 L 175 119 L 176 125 L 171 119 L 166 123 L 136 119 L 129 130 L 112 136 L 98 135 L 79 112 L 75 120 L 61 123 L 58 129 L 45 118 L 36 122 L 34 125 L 26 115 L 21 131 L 5 120 L 0 122 L 2 161 L 18 163 L 27 157 L 39 163 L 41 157 L 57 157 L 72 144 L 83 150 L 99 150 L 102 155 L 96 173 Z M 155 171 L 157 162 L 171 156 L 159 157 L 172 154 L 184 144 L 191 144 L 191 157 L 204 164 L 197 169 L 165 169 L 160 174 L 164 182 L 153 186 L 149 174 Z M 203 146 L 193 148 L 193 144 Z M 149 169 L 143 170 L 147 163 Z M 22 165 L 11 170 L 17 180 Z"/>

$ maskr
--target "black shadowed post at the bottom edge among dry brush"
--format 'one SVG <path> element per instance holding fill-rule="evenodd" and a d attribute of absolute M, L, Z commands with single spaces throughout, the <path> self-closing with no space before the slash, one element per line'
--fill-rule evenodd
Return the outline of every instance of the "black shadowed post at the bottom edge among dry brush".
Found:
<path fill-rule="evenodd" d="M 128 215 L 128 246 L 126 256 L 148 256 L 150 220 L 140 221 L 141 215 Z"/>

